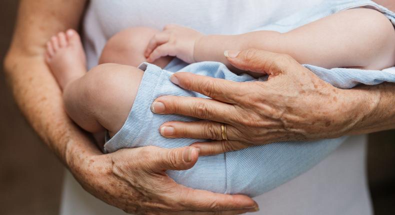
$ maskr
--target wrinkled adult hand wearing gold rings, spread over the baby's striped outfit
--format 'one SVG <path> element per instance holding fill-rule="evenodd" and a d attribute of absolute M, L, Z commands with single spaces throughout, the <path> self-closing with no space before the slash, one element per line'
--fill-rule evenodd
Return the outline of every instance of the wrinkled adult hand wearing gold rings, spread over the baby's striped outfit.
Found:
<path fill-rule="evenodd" d="M 357 99 L 357 94 L 333 87 L 288 55 L 257 49 L 225 51 L 225 55 L 235 67 L 268 74 L 268 80 L 233 82 L 174 73 L 173 83 L 213 99 L 158 97 L 151 106 L 155 113 L 206 119 L 166 122 L 160 127 L 163 136 L 218 140 L 194 143 L 200 154 L 281 140 L 332 138 L 347 133 L 363 115 L 351 107 L 360 106 L 362 111 L 369 105 L 365 102 L 369 98 Z M 226 125 L 227 141 L 222 138 L 221 123 Z"/>

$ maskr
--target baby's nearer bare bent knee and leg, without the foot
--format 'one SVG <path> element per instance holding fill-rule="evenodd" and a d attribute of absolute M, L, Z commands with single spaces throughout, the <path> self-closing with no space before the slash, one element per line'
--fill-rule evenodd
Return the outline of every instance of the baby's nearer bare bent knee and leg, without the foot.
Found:
<path fill-rule="evenodd" d="M 89 132 L 115 134 L 133 104 L 143 71 L 133 66 L 104 63 L 71 82 L 63 91 L 68 115 Z"/>

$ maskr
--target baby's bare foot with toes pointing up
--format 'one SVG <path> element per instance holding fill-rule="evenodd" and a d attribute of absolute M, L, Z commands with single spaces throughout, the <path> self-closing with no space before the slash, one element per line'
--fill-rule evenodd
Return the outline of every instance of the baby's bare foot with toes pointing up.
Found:
<path fill-rule="evenodd" d="M 52 36 L 46 42 L 45 61 L 62 89 L 83 76 L 86 57 L 78 33 L 69 29 Z"/>

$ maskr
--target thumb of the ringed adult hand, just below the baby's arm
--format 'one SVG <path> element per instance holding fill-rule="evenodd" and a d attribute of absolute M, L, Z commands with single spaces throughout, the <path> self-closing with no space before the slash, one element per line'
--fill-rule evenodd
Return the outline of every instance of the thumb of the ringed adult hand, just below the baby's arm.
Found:
<path fill-rule="evenodd" d="M 287 54 L 255 48 L 242 51 L 225 50 L 223 54 L 229 63 L 238 69 L 266 73 L 268 75 L 278 75 L 287 72 L 291 66 L 300 65 Z"/>

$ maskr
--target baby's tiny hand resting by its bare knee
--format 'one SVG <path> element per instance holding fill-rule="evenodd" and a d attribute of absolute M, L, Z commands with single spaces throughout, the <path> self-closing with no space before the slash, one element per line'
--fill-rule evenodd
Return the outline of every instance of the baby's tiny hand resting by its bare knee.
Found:
<path fill-rule="evenodd" d="M 188 27 L 168 24 L 163 31 L 156 33 L 145 49 L 148 62 L 153 62 L 161 56 L 176 56 L 187 63 L 195 62 L 193 49 L 195 42 L 203 34 Z"/>

